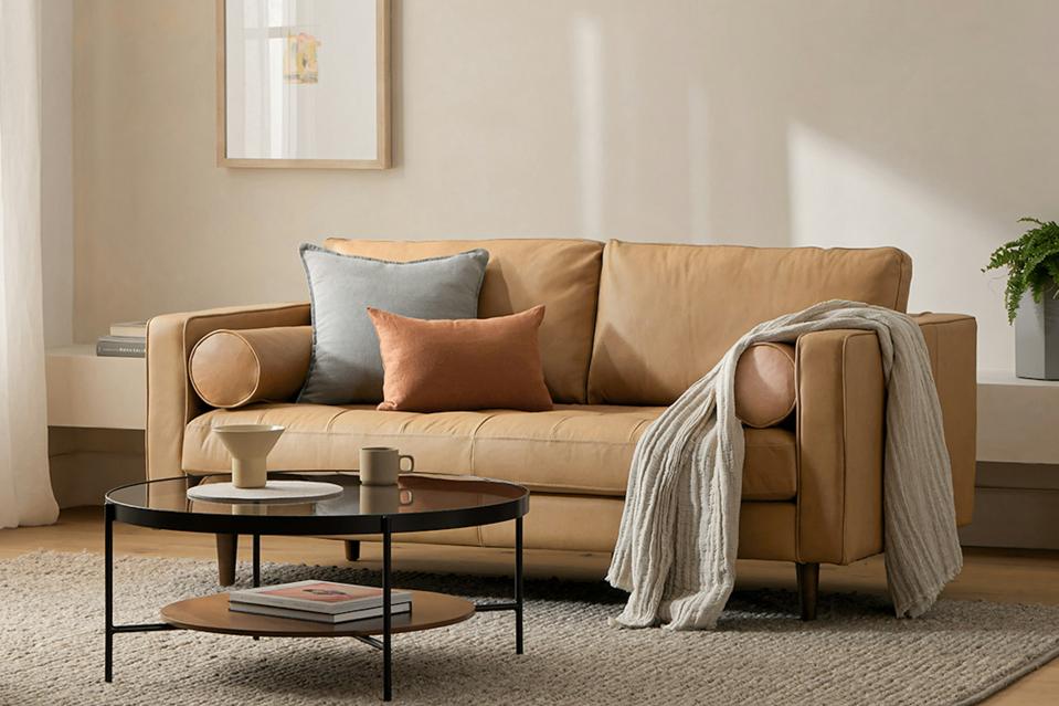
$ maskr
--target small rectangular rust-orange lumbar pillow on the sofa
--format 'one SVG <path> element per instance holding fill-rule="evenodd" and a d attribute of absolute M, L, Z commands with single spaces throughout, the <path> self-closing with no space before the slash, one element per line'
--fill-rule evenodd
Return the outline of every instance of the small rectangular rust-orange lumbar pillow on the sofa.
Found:
<path fill-rule="evenodd" d="M 510 316 L 424 322 L 368 308 L 385 367 L 380 410 L 552 408 L 538 329 L 544 307 Z"/>

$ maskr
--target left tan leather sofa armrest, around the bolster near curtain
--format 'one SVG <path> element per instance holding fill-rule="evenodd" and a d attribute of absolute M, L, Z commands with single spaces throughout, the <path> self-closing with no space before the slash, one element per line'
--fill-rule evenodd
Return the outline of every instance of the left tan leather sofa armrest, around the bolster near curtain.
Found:
<path fill-rule="evenodd" d="M 309 305 L 269 304 L 166 314 L 147 325 L 147 477 L 180 476 L 184 428 L 206 405 L 191 387 L 188 357 L 203 336 L 219 328 L 305 326 L 311 323 Z M 156 495 L 159 495 L 156 497 Z M 152 505 L 184 498 L 152 494 Z"/>

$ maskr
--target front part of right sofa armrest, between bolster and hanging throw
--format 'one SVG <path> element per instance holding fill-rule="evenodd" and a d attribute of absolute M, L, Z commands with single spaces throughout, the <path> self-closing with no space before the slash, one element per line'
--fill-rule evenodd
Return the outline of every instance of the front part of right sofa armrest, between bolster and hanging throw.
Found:
<path fill-rule="evenodd" d="M 795 351 L 798 561 L 882 551 L 886 384 L 875 331 L 798 338 Z"/>

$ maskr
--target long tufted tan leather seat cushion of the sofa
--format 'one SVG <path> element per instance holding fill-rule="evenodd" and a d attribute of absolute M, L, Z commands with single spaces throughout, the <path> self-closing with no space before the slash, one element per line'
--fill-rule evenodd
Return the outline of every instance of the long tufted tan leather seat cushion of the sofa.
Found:
<path fill-rule="evenodd" d="M 370 405 L 254 404 L 212 410 L 188 424 L 183 467 L 225 471 L 210 433 L 222 424 L 282 424 L 271 468 L 356 470 L 361 446 L 396 446 L 425 473 L 470 474 L 543 493 L 624 496 L 633 450 L 664 408 L 560 404 L 549 412 L 381 412 Z M 746 429 L 743 499 L 788 500 L 797 493 L 794 433 Z"/>

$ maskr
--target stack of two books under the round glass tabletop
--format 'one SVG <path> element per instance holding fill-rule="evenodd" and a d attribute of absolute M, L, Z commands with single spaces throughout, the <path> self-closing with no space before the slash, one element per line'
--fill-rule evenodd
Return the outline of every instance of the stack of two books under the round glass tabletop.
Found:
<path fill-rule="evenodd" d="M 331 581 L 295 581 L 229 593 L 227 608 L 240 613 L 348 623 L 382 615 L 382 589 Z M 412 594 L 390 591 L 390 614 L 412 610 Z"/>

